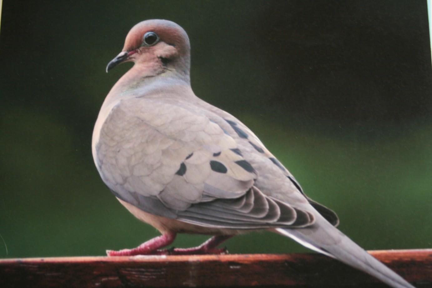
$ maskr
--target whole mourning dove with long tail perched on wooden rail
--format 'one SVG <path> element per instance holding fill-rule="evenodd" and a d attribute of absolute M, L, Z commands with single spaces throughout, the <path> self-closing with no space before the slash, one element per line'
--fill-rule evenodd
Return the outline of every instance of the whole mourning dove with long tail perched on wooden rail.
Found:
<path fill-rule="evenodd" d="M 337 215 L 308 198 L 245 124 L 194 94 L 190 59 L 183 28 L 147 20 L 108 63 L 107 72 L 135 64 L 102 104 L 95 165 L 120 203 L 162 234 L 108 255 L 225 253 L 217 246 L 229 237 L 268 229 L 392 287 L 413 287 L 337 230 Z M 159 249 L 177 233 L 214 236 L 199 247 Z"/>

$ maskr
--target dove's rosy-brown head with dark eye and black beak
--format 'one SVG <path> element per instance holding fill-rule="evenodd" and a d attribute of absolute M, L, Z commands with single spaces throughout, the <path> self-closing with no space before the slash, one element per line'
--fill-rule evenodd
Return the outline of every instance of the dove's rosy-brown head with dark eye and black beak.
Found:
<path fill-rule="evenodd" d="M 123 50 L 108 63 L 106 71 L 132 61 L 154 73 L 171 70 L 188 78 L 190 50 L 189 38 L 179 25 L 168 20 L 146 20 L 130 29 Z"/>

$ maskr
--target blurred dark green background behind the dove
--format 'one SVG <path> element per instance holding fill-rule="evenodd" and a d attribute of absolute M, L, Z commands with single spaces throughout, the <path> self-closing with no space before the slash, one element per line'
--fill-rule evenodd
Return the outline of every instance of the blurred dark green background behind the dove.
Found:
<path fill-rule="evenodd" d="M 194 92 L 254 130 L 344 233 L 365 249 L 432 246 L 426 0 L 4 0 L 0 257 L 102 255 L 158 235 L 117 202 L 91 155 L 99 108 L 130 63 L 105 66 L 152 18 L 189 34 Z M 227 246 L 305 251 L 265 232 Z"/>

